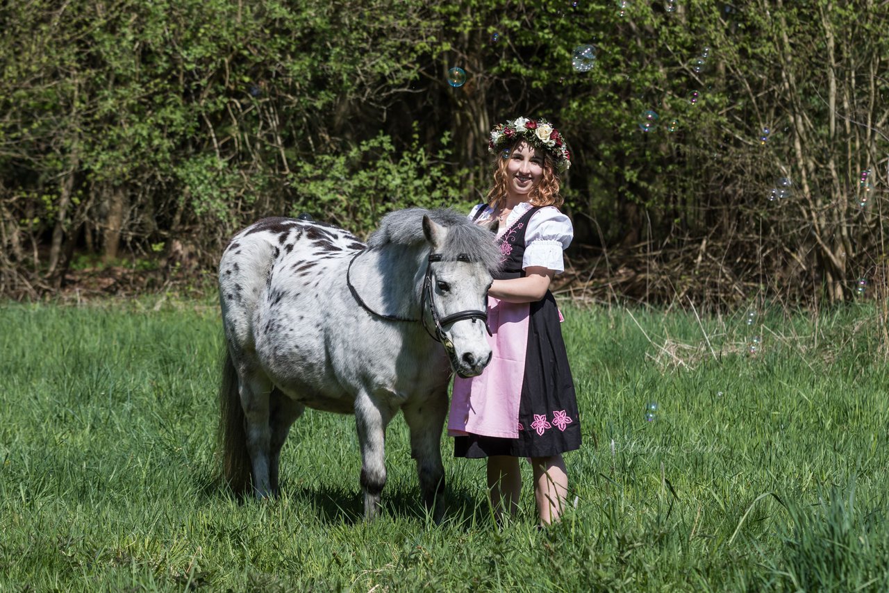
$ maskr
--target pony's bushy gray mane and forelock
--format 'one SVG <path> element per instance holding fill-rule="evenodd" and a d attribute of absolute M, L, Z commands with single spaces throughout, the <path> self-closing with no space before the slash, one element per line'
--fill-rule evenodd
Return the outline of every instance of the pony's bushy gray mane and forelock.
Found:
<path fill-rule="evenodd" d="M 380 228 L 370 236 L 367 244 L 380 248 L 387 244 L 412 245 L 425 243 L 423 235 L 423 215 L 447 227 L 445 245 L 442 247 L 442 260 L 456 261 L 457 256 L 466 254 L 469 260 L 478 261 L 494 272 L 501 267 L 501 252 L 494 244 L 493 233 L 470 221 L 460 212 L 450 208 L 408 208 L 389 212 L 380 220 Z"/>

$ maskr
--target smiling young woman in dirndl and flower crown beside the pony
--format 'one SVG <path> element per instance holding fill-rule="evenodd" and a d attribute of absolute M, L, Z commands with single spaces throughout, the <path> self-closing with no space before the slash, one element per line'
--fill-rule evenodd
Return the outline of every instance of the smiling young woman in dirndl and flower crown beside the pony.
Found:
<path fill-rule="evenodd" d="M 493 358 L 485 372 L 454 379 L 448 434 L 457 457 L 487 458 L 488 488 L 500 519 L 515 514 L 519 459 L 530 459 L 541 525 L 557 521 L 568 476 L 562 453 L 581 446 L 581 425 L 561 314 L 549 284 L 564 271 L 573 227 L 558 211 L 560 172 L 571 154 L 545 119 L 499 124 L 488 149 L 497 155 L 488 204 L 469 217 L 500 220 L 502 272 L 488 291 Z"/>

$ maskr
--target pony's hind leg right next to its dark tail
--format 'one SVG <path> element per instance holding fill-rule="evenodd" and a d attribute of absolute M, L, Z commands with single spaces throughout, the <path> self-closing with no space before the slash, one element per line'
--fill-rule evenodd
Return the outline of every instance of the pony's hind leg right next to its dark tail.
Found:
<path fill-rule="evenodd" d="M 244 408 L 244 432 L 247 453 L 252 466 L 253 493 L 259 499 L 272 493 L 268 474 L 271 430 L 268 427 L 268 394 L 272 384 L 260 373 L 243 373 L 238 381 L 241 406 Z"/>

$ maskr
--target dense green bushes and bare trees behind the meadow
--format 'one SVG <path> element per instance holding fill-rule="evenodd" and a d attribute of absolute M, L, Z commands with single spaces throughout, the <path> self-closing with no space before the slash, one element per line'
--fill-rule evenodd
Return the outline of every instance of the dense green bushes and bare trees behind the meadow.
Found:
<path fill-rule="evenodd" d="M 0 294 L 207 286 L 261 216 L 366 236 L 392 209 L 468 207 L 487 132 L 519 115 L 573 151 L 577 298 L 885 294 L 887 17 L 873 0 L 4 2 Z"/>

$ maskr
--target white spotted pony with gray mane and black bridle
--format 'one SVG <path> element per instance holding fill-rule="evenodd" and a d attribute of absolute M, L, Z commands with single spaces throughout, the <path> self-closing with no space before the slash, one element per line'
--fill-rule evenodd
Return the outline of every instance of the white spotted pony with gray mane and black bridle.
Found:
<path fill-rule="evenodd" d="M 384 216 L 364 244 L 306 219 L 259 220 L 220 259 L 223 477 L 240 495 L 276 496 L 281 448 L 305 407 L 355 414 L 364 516 L 375 517 L 400 410 L 422 501 L 440 520 L 450 376 L 482 373 L 492 356 L 496 227 L 411 208 Z"/>

